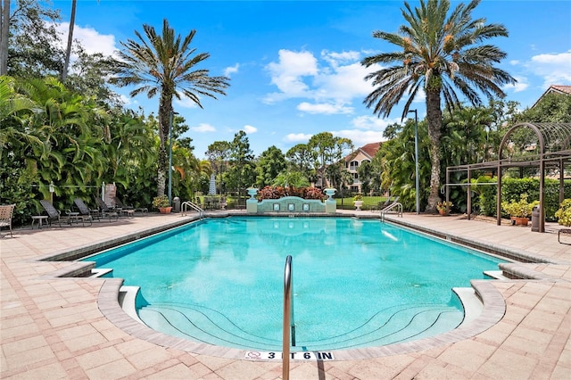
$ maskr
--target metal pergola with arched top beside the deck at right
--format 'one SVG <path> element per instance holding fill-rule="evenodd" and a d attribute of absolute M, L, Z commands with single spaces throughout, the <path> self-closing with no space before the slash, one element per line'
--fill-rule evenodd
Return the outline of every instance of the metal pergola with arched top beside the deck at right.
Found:
<path fill-rule="evenodd" d="M 559 202 L 564 199 L 565 170 L 571 171 L 571 123 L 518 123 L 501 139 L 498 160 L 446 168 L 446 201 L 449 201 L 450 186 L 465 185 L 468 194 L 468 219 L 471 215 L 471 186 L 474 170 L 491 169 L 498 173 L 496 214 L 501 224 L 501 177 L 504 169 L 538 168 L 539 171 L 539 232 L 545 232 L 545 208 L 543 187 L 546 170 L 559 173 Z M 450 173 L 468 172 L 467 184 L 451 184 Z M 490 184 L 488 184 L 490 185 Z"/>

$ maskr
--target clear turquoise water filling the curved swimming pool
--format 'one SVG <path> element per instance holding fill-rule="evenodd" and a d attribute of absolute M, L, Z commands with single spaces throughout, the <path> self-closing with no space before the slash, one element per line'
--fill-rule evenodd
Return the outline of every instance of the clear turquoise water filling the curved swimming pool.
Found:
<path fill-rule="evenodd" d="M 300 351 L 449 331 L 464 316 L 451 288 L 501 262 L 373 219 L 250 217 L 205 219 L 86 260 L 141 286 L 139 317 L 158 331 L 280 351 L 287 255 Z"/>

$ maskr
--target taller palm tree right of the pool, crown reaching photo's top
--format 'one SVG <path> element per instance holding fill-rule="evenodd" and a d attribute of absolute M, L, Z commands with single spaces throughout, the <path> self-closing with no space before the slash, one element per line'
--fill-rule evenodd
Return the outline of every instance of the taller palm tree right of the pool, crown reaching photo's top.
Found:
<path fill-rule="evenodd" d="M 481 95 L 489 99 L 505 96 L 501 86 L 515 83 L 506 71 L 494 67 L 506 54 L 494 45 L 481 45 L 492 37 L 508 37 L 508 30 L 499 24 L 485 24 L 485 19 L 472 20 L 471 13 L 480 0 L 468 5 L 459 4 L 450 15 L 449 0 L 420 0 L 414 11 L 405 2 L 402 17 L 408 23 L 398 33 L 373 32 L 380 38 L 401 47 L 401 51 L 381 53 L 365 58 L 361 64 L 393 63 L 371 72 L 376 88 L 364 103 L 374 107 L 379 117 L 390 114 L 403 96 L 407 96 L 402 119 L 409 112 L 410 103 L 421 91 L 426 93 L 426 119 L 430 137 L 430 195 L 426 211 L 434 211 L 440 200 L 441 159 L 441 100 L 449 112 L 460 107 L 457 91 L 473 105 L 481 105 Z M 406 95 L 405 95 L 406 93 Z"/>

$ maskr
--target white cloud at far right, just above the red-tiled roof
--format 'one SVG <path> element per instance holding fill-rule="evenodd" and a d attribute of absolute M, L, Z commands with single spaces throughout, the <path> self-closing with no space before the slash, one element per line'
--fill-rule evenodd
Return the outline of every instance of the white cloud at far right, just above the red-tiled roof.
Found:
<path fill-rule="evenodd" d="M 571 50 L 559 54 L 534 55 L 529 69 L 543 78 L 543 87 L 571 84 Z"/>

